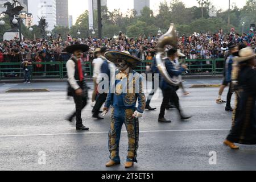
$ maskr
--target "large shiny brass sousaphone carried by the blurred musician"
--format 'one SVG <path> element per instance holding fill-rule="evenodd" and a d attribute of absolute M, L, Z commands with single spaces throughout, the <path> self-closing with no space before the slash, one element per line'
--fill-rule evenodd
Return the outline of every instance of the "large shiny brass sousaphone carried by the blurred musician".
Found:
<path fill-rule="evenodd" d="M 159 69 L 160 74 L 163 76 L 164 80 L 168 82 L 168 84 L 178 86 L 182 81 L 181 76 L 172 78 L 166 70 L 164 58 L 164 47 L 166 45 L 171 45 L 174 48 L 177 48 L 177 32 L 174 26 L 174 23 L 171 23 L 171 26 L 166 32 L 166 34 L 160 36 L 158 40 L 158 53 L 156 54 L 156 65 Z"/>

